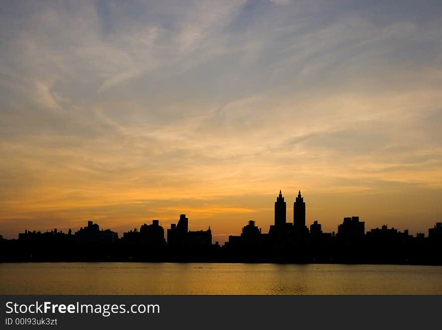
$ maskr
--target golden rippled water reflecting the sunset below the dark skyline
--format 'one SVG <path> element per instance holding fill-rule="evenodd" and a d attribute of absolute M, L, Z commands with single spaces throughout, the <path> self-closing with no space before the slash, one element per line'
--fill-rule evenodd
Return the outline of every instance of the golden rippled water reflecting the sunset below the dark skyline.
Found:
<path fill-rule="evenodd" d="M 7 263 L 0 294 L 442 294 L 442 267 Z"/>

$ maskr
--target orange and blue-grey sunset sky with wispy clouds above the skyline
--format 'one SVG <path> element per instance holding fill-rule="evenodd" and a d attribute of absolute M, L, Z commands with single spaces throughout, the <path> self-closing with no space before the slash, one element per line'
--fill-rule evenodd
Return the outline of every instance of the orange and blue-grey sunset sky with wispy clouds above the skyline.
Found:
<path fill-rule="evenodd" d="M 11 1 L 0 234 L 442 221 L 441 1 Z"/>

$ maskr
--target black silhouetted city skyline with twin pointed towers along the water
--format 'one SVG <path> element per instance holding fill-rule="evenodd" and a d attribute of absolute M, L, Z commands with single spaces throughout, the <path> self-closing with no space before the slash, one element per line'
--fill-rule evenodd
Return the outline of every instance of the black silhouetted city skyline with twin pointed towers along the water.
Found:
<path fill-rule="evenodd" d="M 0 236 L 1 262 L 118 261 L 118 262 L 266 262 L 266 263 L 369 263 L 442 265 L 442 223 L 415 237 L 386 225 L 365 232 L 359 216 L 345 217 L 338 232 L 323 233 L 314 221 L 305 224 L 305 202 L 298 192 L 293 204 L 293 222 L 287 222 L 286 202 L 279 191 L 275 222 L 268 234 L 253 220 L 239 236 L 230 236 L 220 246 L 212 244 L 210 227 L 189 231 L 188 218 L 181 214 L 177 224 L 164 229 L 158 220 L 118 234 L 97 224 L 72 234 L 25 230 L 18 240 Z"/>

